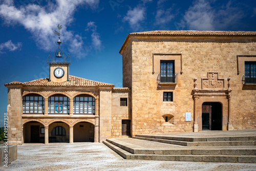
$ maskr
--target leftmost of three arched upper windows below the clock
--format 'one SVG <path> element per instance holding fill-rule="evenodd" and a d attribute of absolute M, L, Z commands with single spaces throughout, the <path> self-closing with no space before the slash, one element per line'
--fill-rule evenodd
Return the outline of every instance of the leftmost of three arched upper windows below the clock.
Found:
<path fill-rule="evenodd" d="M 38 94 L 29 94 L 23 97 L 23 113 L 43 114 L 45 113 L 45 99 Z"/>

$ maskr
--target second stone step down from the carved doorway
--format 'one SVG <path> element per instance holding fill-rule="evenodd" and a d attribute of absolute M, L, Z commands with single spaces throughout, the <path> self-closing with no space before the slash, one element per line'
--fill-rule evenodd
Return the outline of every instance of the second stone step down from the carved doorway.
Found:
<path fill-rule="evenodd" d="M 146 138 L 135 136 L 135 139 L 147 140 L 147 141 L 156 141 L 162 143 L 183 145 L 183 146 L 252 146 L 256 145 L 256 141 L 201 141 L 201 142 L 186 142 L 186 141 L 177 141 L 177 140 L 167 140 L 167 139 L 157 139 L 157 138 Z"/>

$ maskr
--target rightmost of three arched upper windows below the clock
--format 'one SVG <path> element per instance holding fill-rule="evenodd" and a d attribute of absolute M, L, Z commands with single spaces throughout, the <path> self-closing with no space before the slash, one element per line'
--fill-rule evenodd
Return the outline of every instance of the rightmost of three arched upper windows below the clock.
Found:
<path fill-rule="evenodd" d="M 89 95 L 74 97 L 74 114 L 95 114 L 95 98 Z"/>

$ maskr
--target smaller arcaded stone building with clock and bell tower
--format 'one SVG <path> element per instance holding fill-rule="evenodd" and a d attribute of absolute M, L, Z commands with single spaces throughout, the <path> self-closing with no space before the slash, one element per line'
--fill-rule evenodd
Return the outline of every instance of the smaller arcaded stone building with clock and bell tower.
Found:
<path fill-rule="evenodd" d="M 47 62 L 49 78 L 5 84 L 9 144 L 100 142 L 130 135 L 130 89 L 69 75 L 71 58 L 60 47 Z"/>

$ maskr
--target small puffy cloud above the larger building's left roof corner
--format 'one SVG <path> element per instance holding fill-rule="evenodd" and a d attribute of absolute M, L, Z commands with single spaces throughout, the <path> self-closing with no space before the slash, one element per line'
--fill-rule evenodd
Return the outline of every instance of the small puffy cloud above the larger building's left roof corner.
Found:
<path fill-rule="evenodd" d="M 128 22 L 130 27 L 137 31 L 140 29 L 140 23 L 145 19 L 146 8 L 138 5 L 134 9 L 130 9 L 126 16 L 123 18 L 123 22 Z"/>

